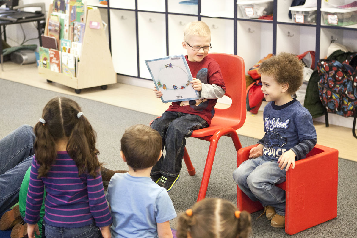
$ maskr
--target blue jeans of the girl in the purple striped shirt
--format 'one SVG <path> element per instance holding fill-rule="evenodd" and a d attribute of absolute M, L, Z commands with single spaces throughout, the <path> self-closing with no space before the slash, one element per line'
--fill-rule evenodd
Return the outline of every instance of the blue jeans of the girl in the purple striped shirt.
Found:
<path fill-rule="evenodd" d="M 99 227 L 92 223 L 77 228 L 52 227 L 45 223 L 46 238 L 101 238 Z"/>

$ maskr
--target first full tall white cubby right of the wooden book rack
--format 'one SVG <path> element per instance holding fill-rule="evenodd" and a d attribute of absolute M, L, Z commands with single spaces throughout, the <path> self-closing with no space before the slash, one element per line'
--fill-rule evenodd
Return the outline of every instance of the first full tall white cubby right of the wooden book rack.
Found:
<path fill-rule="evenodd" d="M 137 77 L 135 12 L 110 9 L 110 27 L 115 72 Z"/>

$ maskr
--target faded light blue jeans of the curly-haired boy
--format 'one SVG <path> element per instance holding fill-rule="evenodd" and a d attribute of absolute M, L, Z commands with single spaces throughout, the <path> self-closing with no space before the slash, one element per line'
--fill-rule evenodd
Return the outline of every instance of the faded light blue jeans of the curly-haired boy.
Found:
<path fill-rule="evenodd" d="M 272 206 L 278 215 L 285 216 L 285 191 L 275 184 L 286 181 L 286 171 L 280 170 L 277 161 L 263 156 L 248 159 L 233 172 L 233 179 L 250 199 L 263 207 Z"/>

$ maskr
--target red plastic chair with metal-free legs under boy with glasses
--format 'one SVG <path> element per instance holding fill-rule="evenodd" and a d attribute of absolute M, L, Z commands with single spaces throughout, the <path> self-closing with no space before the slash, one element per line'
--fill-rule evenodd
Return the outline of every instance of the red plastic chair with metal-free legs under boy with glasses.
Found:
<path fill-rule="evenodd" d="M 236 130 L 243 125 L 246 118 L 246 83 L 243 58 L 224 53 L 210 53 L 208 56 L 215 59 L 220 65 L 223 80 L 226 85 L 225 96 L 231 98 L 232 103 L 229 108 L 216 108 L 211 125 L 206 128 L 194 130 L 191 135 L 191 137 L 210 142 L 197 201 L 200 201 L 206 196 L 218 140 L 221 136 L 230 136 L 236 150 L 238 151 L 242 148 Z M 188 174 L 191 176 L 195 175 L 196 171 L 191 163 L 190 156 L 188 156 L 186 147 L 183 159 L 186 163 Z"/>

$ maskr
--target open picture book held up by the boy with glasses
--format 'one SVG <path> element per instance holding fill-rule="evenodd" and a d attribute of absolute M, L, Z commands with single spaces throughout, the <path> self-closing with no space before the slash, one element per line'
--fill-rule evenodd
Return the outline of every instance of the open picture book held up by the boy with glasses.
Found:
<path fill-rule="evenodd" d="M 198 93 L 190 81 L 191 71 L 183 55 L 145 60 L 155 87 L 162 92 L 162 102 L 197 100 Z"/>

